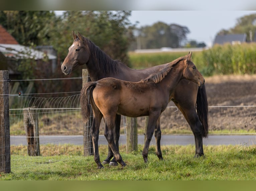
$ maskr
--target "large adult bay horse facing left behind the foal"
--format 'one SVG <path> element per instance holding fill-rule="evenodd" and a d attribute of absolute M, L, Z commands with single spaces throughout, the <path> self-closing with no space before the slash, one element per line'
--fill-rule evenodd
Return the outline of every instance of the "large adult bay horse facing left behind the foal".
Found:
<path fill-rule="evenodd" d="M 113 77 L 120 80 L 139 82 L 150 74 L 159 71 L 168 64 L 154 66 L 142 70 L 133 70 L 117 60 L 112 60 L 98 46 L 80 33 L 72 32 L 74 42 L 61 65 L 61 70 L 68 75 L 81 65 L 86 65 L 92 81 Z M 195 157 L 204 155 L 203 137 L 208 137 L 208 102 L 205 86 L 198 88 L 194 82 L 182 79 L 169 97 L 184 115 L 195 137 Z M 118 147 L 121 115 L 116 116 L 115 143 Z M 109 163 L 113 153 L 109 147 L 107 158 L 103 163 Z M 114 159 L 112 160 L 115 164 Z"/>

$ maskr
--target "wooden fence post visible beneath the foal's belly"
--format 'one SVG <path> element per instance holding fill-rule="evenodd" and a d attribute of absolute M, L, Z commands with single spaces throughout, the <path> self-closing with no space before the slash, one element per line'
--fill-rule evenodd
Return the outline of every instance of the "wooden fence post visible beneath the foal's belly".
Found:
<path fill-rule="evenodd" d="M 126 117 L 126 153 L 138 150 L 137 118 Z"/>

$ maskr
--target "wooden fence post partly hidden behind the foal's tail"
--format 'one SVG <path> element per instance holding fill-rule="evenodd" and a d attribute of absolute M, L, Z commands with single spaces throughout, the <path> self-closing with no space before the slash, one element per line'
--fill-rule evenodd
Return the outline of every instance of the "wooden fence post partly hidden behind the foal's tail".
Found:
<path fill-rule="evenodd" d="M 83 69 L 83 87 L 87 82 L 90 82 L 87 69 Z M 88 100 L 89 101 L 89 100 Z M 91 107 L 91 105 L 90 105 Z M 84 156 L 93 155 L 93 141 L 91 137 L 91 126 L 93 123 L 93 110 L 91 108 L 91 115 L 87 123 L 84 123 Z"/>

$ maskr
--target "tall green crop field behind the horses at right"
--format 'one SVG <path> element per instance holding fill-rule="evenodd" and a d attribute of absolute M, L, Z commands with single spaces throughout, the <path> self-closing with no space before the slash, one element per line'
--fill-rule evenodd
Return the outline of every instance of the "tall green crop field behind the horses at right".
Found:
<path fill-rule="evenodd" d="M 165 64 L 185 56 L 186 52 L 130 53 L 132 68 L 141 69 Z M 204 76 L 215 74 L 256 74 L 256 43 L 215 45 L 193 52 L 192 61 Z"/>

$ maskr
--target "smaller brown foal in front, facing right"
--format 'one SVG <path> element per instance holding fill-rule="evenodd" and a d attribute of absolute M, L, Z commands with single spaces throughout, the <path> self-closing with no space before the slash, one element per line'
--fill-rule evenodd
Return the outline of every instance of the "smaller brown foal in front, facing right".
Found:
<path fill-rule="evenodd" d="M 82 116 L 89 119 L 91 109 L 88 97 L 93 109 L 93 123 L 91 135 L 93 140 L 94 160 L 98 168 L 103 165 L 100 162 L 98 139 L 102 117 L 105 119 L 104 135 L 108 141 L 117 162 L 125 166 L 125 162 L 119 153 L 114 141 L 114 126 L 116 114 L 129 117 L 149 116 L 146 139 L 142 156 L 148 161 L 148 148 L 155 132 L 157 144 L 156 154 L 161 160 L 160 149 L 160 115 L 166 109 L 170 95 L 173 94 L 179 81 L 183 78 L 191 80 L 199 87 L 204 85 L 205 79 L 190 61 L 191 54 L 180 57 L 165 65 L 157 73 L 151 74 L 140 82 L 127 82 L 115 78 L 104 78 L 96 82 L 88 82 L 81 90 L 80 105 Z M 89 95 L 87 92 L 90 92 Z"/>

